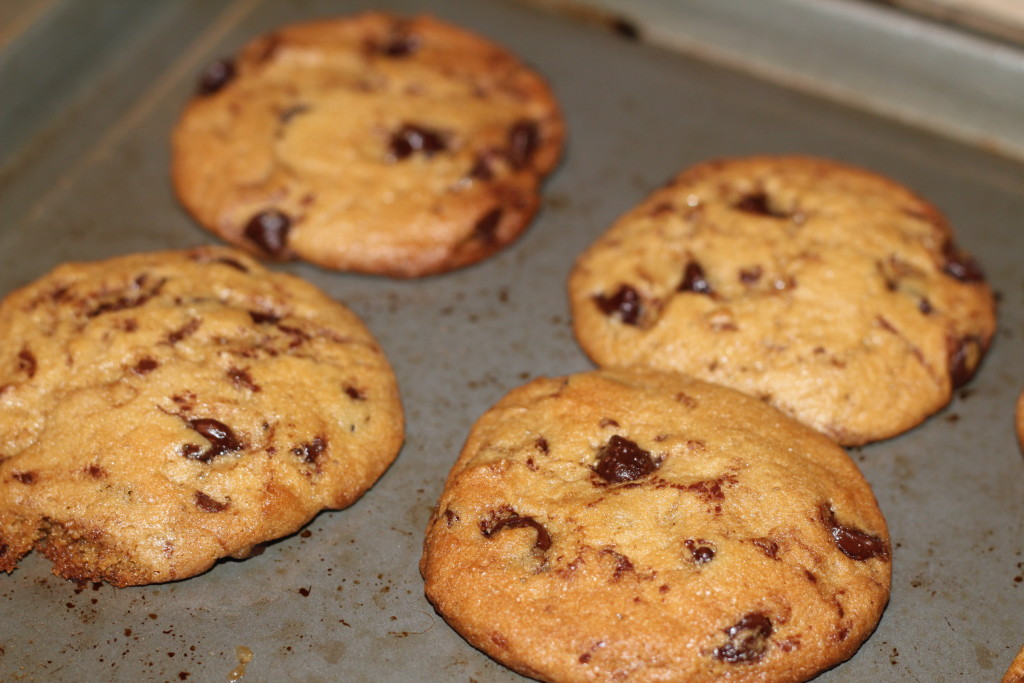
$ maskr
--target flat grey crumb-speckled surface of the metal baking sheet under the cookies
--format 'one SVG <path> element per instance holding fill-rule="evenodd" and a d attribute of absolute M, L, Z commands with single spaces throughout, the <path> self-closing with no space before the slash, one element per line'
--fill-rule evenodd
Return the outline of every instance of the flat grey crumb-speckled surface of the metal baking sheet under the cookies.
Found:
<path fill-rule="evenodd" d="M 139 4 L 104 25 L 110 49 L 97 43 L 88 61 L 73 59 L 81 78 L 42 90 L 52 101 L 35 103 L 52 115 L 47 124 L 0 151 L 0 292 L 66 260 L 214 242 L 168 180 L 168 133 L 199 69 L 279 24 L 370 6 L 457 22 L 548 77 L 569 138 L 542 213 L 511 248 L 441 276 L 275 266 L 346 302 L 377 335 L 408 411 L 398 460 L 351 508 L 187 581 L 78 586 L 30 556 L 0 575 L 0 680 L 522 680 L 423 597 L 417 562 L 449 467 L 508 389 L 591 367 L 565 296 L 580 251 L 682 167 L 766 153 L 858 164 L 930 198 L 1000 301 L 991 352 L 952 403 L 851 454 L 891 527 L 892 599 L 860 651 L 818 680 L 998 680 L 1024 642 L 1024 458 L 1012 417 L 1024 389 L 1018 163 L 501 0 Z"/>

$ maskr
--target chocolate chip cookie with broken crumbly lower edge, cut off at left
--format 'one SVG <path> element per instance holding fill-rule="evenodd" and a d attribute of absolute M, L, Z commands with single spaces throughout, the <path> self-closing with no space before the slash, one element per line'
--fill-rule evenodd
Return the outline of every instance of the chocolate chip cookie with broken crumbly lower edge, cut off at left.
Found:
<path fill-rule="evenodd" d="M 61 265 L 0 332 L 0 570 L 191 577 L 350 505 L 402 442 L 362 323 L 238 250 Z"/>

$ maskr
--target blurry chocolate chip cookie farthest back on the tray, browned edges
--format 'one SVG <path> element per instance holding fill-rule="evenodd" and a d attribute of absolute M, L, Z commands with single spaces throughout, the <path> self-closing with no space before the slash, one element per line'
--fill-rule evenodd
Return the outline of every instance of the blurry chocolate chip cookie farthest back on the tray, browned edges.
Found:
<path fill-rule="evenodd" d="M 237 246 L 413 278 L 515 240 L 563 138 L 551 90 L 504 48 L 368 12 L 283 27 L 208 67 L 172 176 Z"/>

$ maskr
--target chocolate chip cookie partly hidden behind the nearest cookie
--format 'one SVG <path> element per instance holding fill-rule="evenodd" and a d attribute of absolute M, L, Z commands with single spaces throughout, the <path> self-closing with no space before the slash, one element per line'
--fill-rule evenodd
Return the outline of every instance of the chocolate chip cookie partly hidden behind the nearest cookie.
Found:
<path fill-rule="evenodd" d="M 682 172 L 578 258 L 568 287 L 598 365 L 724 384 L 846 445 L 944 407 L 995 328 L 981 269 L 933 206 L 802 157 Z"/>

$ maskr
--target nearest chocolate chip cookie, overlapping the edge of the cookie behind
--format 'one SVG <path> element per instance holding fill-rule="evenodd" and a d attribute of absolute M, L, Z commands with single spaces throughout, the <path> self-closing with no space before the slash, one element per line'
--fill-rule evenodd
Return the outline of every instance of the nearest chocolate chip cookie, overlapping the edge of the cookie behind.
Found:
<path fill-rule="evenodd" d="M 830 439 L 617 369 L 535 380 L 477 421 L 420 568 L 456 631 L 541 680 L 799 681 L 874 629 L 890 553 Z"/>

